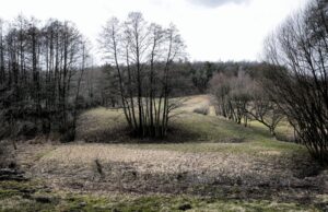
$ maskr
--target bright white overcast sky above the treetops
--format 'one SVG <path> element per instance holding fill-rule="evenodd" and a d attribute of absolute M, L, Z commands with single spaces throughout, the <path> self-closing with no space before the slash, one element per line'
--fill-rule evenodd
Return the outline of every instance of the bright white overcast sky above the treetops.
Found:
<path fill-rule="evenodd" d="M 0 17 L 20 13 L 74 22 L 96 45 L 112 16 L 140 11 L 149 22 L 177 25 L 192 60 L 260 60 L 262 42 L 307 0 L 1 0 Z"/>

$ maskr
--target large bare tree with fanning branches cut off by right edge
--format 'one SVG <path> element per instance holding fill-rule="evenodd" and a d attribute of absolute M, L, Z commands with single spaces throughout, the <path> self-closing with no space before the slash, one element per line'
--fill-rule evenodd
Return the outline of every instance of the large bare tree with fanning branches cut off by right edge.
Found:
<path fill-rule="evenodd" d="M 311 154 L 328 163 L 328 5 L 313 0 L 266 43 L 267 91 Z"/>

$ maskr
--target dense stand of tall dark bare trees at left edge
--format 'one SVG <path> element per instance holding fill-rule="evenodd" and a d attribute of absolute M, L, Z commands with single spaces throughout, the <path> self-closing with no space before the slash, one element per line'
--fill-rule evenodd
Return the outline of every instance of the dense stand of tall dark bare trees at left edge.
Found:
<path fill-rule="evenodd" d="M 33 133 L 74 125 L 86 59 L 86 42 L 70 22 L 1 22 L 0 137 L 17 136 L 26 123 Z"/>

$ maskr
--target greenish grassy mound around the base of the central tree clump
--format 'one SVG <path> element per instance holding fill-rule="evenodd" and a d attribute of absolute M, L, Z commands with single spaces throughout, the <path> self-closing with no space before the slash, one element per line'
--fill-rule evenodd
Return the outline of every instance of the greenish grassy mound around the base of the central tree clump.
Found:
<path fill-rule="evenodd" d="M 254 154 L 262 150 L 306 154 L 306 150 L 301 145 L 278 141 L 272 138 L 259 122 L 253 121 L 250 127 L 245 128 L 222 117 L 195 114 L 190 111 L 189 105 L 183 110 L 181 115 L 172 120 L 175 133 L 172 137 L 174 138 L 168 138 L 154 144 L 152 144 L 152 141 L 145 140 L 138 142 L 139 144 L 129 144 L 129 146 L 183 152 L 227 151 Z M 119 132 L 124 125 L 124 115 L 120 110 L 92 109 L 81 116 L 78 138 L 110 143 L 117 139 L 113 132 Z M 283 123 L 279 126 L 278 133 L 290 133 L 290 129 Z M 125 138 L 125 142 L 127 141 L 136 143 L 136 141 Z"/>

